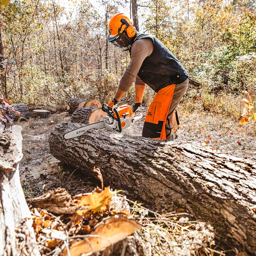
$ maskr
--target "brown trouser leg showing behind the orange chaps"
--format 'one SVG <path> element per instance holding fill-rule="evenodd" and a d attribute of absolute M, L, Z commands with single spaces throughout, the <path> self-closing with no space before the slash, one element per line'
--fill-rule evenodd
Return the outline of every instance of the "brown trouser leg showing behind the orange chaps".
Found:
<path fill-rule="evenodd" d="M 166 131 L 166 139 L 170 139 L 171 137 L 171 119 L 172 119 L 172 113 L 174 112 L 175 108 L 181 101 L 181 98 L 185 94 L 186 90 L 188 88 L 188 79 L 185 80 L 181 84 L 176 84 L 175 90 L 174 90 L 174 96 L 172 98 L 172 102 L 168 111 L 168 115 L 165 122 L 165 131 Z"/>

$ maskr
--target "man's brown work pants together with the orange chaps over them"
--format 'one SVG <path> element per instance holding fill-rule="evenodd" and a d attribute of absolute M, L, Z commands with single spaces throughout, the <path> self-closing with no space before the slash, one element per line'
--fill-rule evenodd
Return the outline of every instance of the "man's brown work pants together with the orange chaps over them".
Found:
<path fill-rule="evenodd" d="M 172 113 L 181 101 L 187 87 L 188 79 L 181 84 L 171 84 L 158 91 L 146 114 L 142 131 L 143 137 L 169 139 Z"/>

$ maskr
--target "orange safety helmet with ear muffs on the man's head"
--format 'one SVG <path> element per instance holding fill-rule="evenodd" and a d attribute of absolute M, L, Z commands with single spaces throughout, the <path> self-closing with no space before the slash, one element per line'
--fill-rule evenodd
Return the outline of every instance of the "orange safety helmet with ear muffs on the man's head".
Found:
<path fill-rule="evenodd" d="M 132 27 L 132 21 L 124 13 L 117 13 L 110 19 L 110 33 L 108 35 L 108 41 L 112 42 L 117 39 L 118 35 L 126 32 L 129 38 L 135 36 L 136 31 Z"/>

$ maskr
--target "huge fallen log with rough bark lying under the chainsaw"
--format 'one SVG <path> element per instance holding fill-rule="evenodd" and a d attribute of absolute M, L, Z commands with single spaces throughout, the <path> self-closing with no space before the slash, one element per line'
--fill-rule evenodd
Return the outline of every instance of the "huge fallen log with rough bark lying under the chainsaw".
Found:
<path fill-rule="evenodd" d="M 65 140 L 81 124 L 63 123 L 49 138 L 51 154 L 158 212 L 186 211 L 208 221 L 216 236 L 256 251 L 256 164 L 193 142 L 161 142 L 102 130 Z"/>

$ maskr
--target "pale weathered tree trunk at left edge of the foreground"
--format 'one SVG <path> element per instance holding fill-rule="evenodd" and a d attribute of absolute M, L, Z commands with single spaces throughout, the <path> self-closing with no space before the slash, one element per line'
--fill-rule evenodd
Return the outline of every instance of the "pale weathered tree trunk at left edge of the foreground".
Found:
<path fill-rule="evenodd" d="M 33 220 L 20 184 L 21 126 L 0 135 L 0 256 L 38 255 Z"/>

